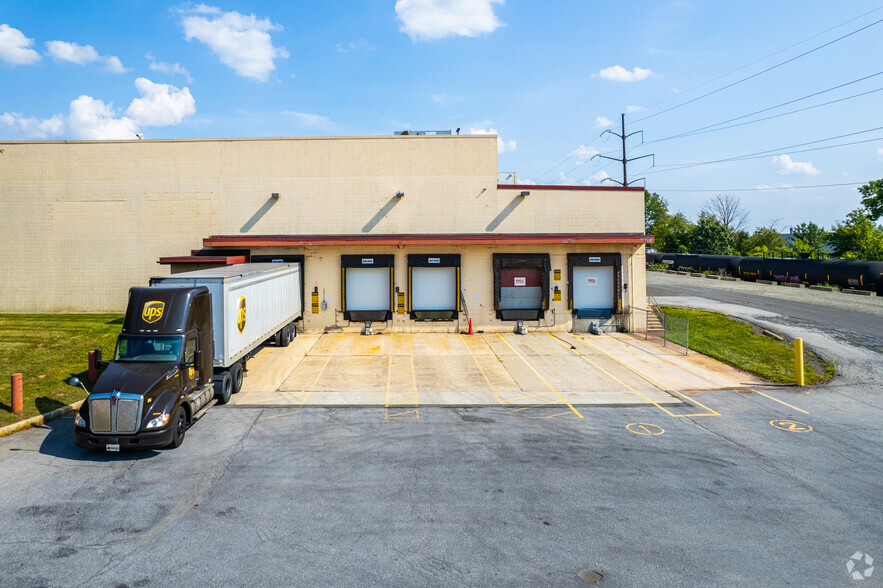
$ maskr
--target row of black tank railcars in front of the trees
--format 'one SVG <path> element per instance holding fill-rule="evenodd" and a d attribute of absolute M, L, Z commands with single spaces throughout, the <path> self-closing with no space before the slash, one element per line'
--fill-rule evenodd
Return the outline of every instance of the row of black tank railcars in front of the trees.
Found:
<path fill-rule="evenodd" d="M 672 269 L 691 267 L 697 271 L 726 271 L 743 280 L 775 280 L 797 277 L 804 284 L 833 284 L 841 288 L 871 290 L 883 295 L 883 261 L 841 259 L 782 259 L 737 255 L 694 255 L 648 253 L 647 263 L 670 262 Z"/>

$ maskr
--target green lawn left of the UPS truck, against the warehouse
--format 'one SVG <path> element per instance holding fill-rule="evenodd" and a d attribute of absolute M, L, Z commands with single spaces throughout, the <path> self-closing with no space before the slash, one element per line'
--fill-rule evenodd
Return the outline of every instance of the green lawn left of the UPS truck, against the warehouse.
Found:
<path fill-rule="evenodd" d="M 67 380 L 77 376 L 89 386 L 89 350 L 100 347 L 110 358 L 122 322 L 119 314 L 0 315 L 0 427 L 85 398 Z M 12 413 L 10 375 L 17 372 L 24 392 L 20 415 Z"/>

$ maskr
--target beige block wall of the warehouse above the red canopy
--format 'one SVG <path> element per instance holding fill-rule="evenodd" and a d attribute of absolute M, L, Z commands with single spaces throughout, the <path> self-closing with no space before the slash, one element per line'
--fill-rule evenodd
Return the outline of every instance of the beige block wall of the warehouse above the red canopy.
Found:
<path fill-rule="evenodd" d="M 498 189 L 494 136 L 0 148 L 0 312 L 122 311 L 211 235 L 643 231 L 637 191 Z"/>

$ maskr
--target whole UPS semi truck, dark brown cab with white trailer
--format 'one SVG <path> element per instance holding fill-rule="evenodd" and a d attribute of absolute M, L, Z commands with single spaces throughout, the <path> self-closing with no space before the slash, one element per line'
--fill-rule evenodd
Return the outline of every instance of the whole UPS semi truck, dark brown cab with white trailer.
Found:
<path fill-rule="evenodd" d="M 301 301 L 298 263 L 237 264 L 131 288 L 113 360 L 101 363 L 76 415 L 74 442 L 178 447 L 191 423 L 239 392 L 262 343 L 291 343 Z"/>

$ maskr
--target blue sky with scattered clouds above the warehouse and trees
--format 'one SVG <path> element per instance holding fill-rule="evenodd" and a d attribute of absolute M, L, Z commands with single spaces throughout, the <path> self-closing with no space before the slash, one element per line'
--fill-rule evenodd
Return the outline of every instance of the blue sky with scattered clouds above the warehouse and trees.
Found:
<path fill-rule="evenodd" d="M 830 227 L 883 177 L 881 19 L 864 0 L 0 0 L 0 140 L 460 127 L 497 133 L 524 183 L 598 185 L 622 179 L 591 155 L 620 156 L 599 135 L 627 112 L 629 157 L 655 154 L 629 178 L 673 211 L 729 193 L 752 228 Z"/>

